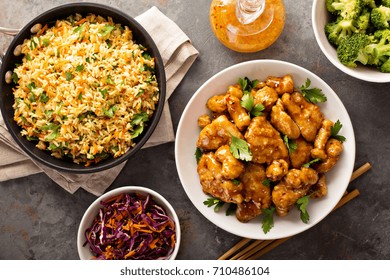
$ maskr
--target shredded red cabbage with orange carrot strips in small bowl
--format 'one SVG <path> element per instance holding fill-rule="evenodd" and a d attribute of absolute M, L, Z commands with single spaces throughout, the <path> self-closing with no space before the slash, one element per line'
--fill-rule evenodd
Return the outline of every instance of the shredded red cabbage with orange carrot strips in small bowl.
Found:
<path fill-rule="evenodd" d="M 175 222 L 150 195 L 121 194 L 103 208 L 85 231 L 94 259 L 168 259 L 176 243 Z"/>

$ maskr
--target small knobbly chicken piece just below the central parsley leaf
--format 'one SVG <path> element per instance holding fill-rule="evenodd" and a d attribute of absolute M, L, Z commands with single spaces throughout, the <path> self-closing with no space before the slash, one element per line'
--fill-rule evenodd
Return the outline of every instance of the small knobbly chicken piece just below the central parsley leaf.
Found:
<path fill-rule="evenodd" d="M 222 176 L 226 179 L 235 179 L 245 170 L 245 165 L 232 155 L 228 145 L 219 147 L 215 157 L 222 163 Z"/>

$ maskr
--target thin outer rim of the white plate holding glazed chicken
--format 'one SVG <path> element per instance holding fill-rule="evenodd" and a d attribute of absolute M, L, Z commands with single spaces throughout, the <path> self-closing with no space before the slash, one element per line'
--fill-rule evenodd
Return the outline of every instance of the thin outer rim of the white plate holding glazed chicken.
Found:
<path fill-rule="evenodd" d="M 223 70 L 221 70 L 220 72 L 216 73 L 215 75 L 213 75 L 212 77 L 210 77 L 206 82 L 204 82 L 200 88 L 198 88 L 198 90 L 193 94 L 193 96 L 190 98 L 189 102 L 187 103 L 183 113 L 182 113 L 182 116 L 180 118 L 180 121 L 179 121 L 179 124 L 178 124 L 178 128 L 177 128 L 177 138 L 176 138 L 176 141 L 175 141 L 175 157 L 176 157 L 176 168 L 177 168 L 177 171 L 178 171 L 178 175 L 179 175 L 179 179 L 180 181 L 182 182 L 182 185 L 183 185 L 183 188 L 187 194 L 187 196 L 189 197 L 189 199 L 191 200 L 191 202 L 193 203 L 193 205 L 198 209 L 199 212 L 201 212 L 201 214 L 207 219 L 209 220 L 210 222 L 212 222 L 213 224 L 215 224 L 216 226 L 220 227 L 221 229 L 227 231 L 227 232 L 230 232 L 232 234 L 235 234 L 237 236 L 241 236 L 241 237 L 244 237 L 244 238 L 251 238 L 251 239 L 263 239 L 263 240 L 269 240 L 269 239 L 279 239 L 279 238 L 284 238 L 284 237 L 289 237 L 289 236 L 293 236 L 293 235 L 296 235 L 296 234 L 299 234 L 305 230 L 308 230 L 309 228 L 315 226 L 317 223 L 319 223 L 320 221 L 322 221 L 326 216 L 328 216 L 328 214 L 332 211 L 333 207 L 336 205 L 336 203 L 341 199 L 342 197 L 342 194 L 343 192 L 340 192 L 340 195 L 339 197 L 337 198 L 337 201 L 335 200 L 334 201 L 334 205 L 333 207 L 329 208 L 328 211 L 323 211 L 323 214 L 320 215 L 321 217 L 316 220 L 316 221 L 312 221 L 310 222 L 310 224 L 303 224 L 301 225 L 301 228 L 299 230 L 295 230 L 293 232 L 290 232 L 289 234 L 279 234 L 279 235 L 276 235 L 276 234 L 270 234 L 270 232 L 268 233 L 268 235 L 262 235 L 261 238 L 259 238 L 257 235 L 253 235 L 251 233 L 243 233 L 240 229 L 232 229 L 232 228 L 229 228 L 226 224 L 223 224 L 222 222 L 219 222 L 218 220 L 216 220 L 215 218 L 210 218 L 208 216 L 208 207 L 204 206 L 201 207 L 199 205 L 197 205 L 197 203 L 195 202 L 195 199 L 193 197 L 191 197 L 189 195 L 189 191 L 187 190 L 186 186 L 184 186 L 183 184 L 183 170 L 184 170 L 184 167 L 180 166 L 180 159 L 178 157 L 178 154 L 180 153 L 179 151 L 179 142 L 180 142 L 180 139 L 179 139 L 179 135 L 181 134 L 181 130 L 184 129 L 184 126 L 185 124 L 182 122 L 182 119 L 184 118 L 184 116 L 186 116 L 187 114 L 187 111 L 190 110 L 190 107 L 191 107 L 191 104 L 193 103 L 193 101 L 197 98 L 197 95 L 198 93 L 202 92 L 204 88 L 206 88 L 209 83 L 211 83 L 212 81 L 214 81 L 215 79 L 217 79 L 218 77 L 220 76 L 223 76 L 226 72 L 229 72 L 229 71 L 233 71 L 235 68 L 240 68 L 240 67 L 244 67 L 246 65 L 250 65 L 250 64 L 257 64 L 257 63 L 261 63 L 261 64 L 268 64 L 268 63 L 271 63 L 271 64 L 280 64 L 280 65 L 283 65 L 283 66 L 286 66 L 286 67 L 293 67 L 299 71 L 302 71 L 303 73 L 305 74 L 308 74 L 309 76 L 312 76 L 312 77 L 315 77 L 319 82 L 322 83 L 322 86 L 324 86 L 324 88 L 322 88 L 322 90 L 324 92 L 329 92 L 333 98 L 335 98 L 335 101 L 339 103 L 340 105 L 340 110 L 341 111 L 344 111 L 344 114 L 345 114 L 345 118 L 348 120 L 349 122 L 349 127 L 350 127 L 350 130 L 351 130 L 351 134 L 348 136 L 348 143 L 350 145 L 350 149 L 349 149 L 349 157 L 350 158 L 350 162 L 354 163 L 355 162 L 355 154 L 356 154 L 356 144 L 355 144 L 355 135 L 354 135 L 354 131 L 353 131 L 353 126 L 352 126 L 352 123 L 351 123 L 351 120 L 350 120 L 350 117 L 349 117 L 349 114 L 347 112 L 347 110 L 345 109 L 344 107 L 344 104 L 341 102 L 340 98 L 337 96 L 337 94 L 333 91 L 333 89 L 325 82 L 323 81 L 320 77 L 318 77 L 316 74 L 314 74 L 313 72 L 299 66 L 299 65 L 296 65 L 296 64 L 293 64 L 293 63 L 290 63 L 290 62 L 286 62 L 286 61 L 281 61 L 281 60 L 273 60 L 273 59 L 258 59 L 258 60 L 250 60 L 250 61 L 245 61 L 245 62 L 241 62 L 241 63 L 238 63 L 238 64 L 234 64 L 230 67 L 227 67 Z M 287 70 L 286 70 L 286 74 L 287 74 Z M 313 82 L 313 80 L 312 80 Z M 343 171 L 344 174 L 348 175 L 348 177 L 346 176 L 344 178 L 344 190 L 348 187 L 349 185 L 349 179 L 350 179 L 350 176 L 352 175 L 352 172 L 353 172 L 353 166 L 354 164 L 351 164 L 350 166 L 348 166 L 349 168 L 348 169 L 345 169 Z M 333 170 L 332 170 L 333 171 Z M 331 172 L 332 172 L 331 171 Z M 347 179 L 346 179 L 347 178 Z M 200 183 L 199 183 L 200 185 Z M 231 217 L 231 218 L 235 218 L 235 217 Z M 245 224 L 243 224 L 245 225 Z M 272 232 L 272 229 L 271 229 L 271 232 Z"/>

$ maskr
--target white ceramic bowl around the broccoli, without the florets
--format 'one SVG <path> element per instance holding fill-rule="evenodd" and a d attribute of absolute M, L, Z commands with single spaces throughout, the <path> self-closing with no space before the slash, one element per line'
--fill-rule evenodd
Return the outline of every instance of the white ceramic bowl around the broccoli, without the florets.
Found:
<path fill-rule="evenodd" d="M 331 45 L 326 38 L 324 28 L 328 22 L 329 12 L 325 6 L 325 0 L 314 0 L 312 7 L 312 25 L 314 35 L 322 52 L 334 66 L 336 66 L 344 73 L 363 81 L 374 83 L 390 82 L 390 73 L 381 73 L 376 68 L 363 65 L 359 65 L 356 68 L 343 65 L 337 58 L 335 47 Z"/>

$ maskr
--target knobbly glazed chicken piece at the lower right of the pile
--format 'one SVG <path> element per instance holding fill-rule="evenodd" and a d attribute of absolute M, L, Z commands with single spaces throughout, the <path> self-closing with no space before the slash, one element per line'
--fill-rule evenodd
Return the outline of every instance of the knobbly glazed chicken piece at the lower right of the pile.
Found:
<path fill-rule="evenodd" d="M 291 169 L 272 191 L 276 213 L 286 216 L 298 199 L 305 196 L 318 181 L 318 173 L 312 168 Z"/>

